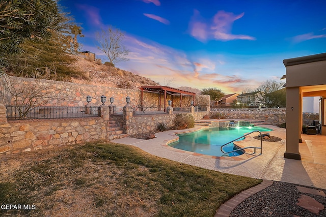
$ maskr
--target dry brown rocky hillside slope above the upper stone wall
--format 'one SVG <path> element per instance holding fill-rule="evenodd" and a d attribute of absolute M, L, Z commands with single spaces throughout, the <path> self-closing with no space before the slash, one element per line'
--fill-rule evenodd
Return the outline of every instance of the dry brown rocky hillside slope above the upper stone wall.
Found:
<path fill-rule="evenodd" d="M 83 57 L 77 57 L 77 61 L 71 66 L 77 71 L 84 72 L 87 79 L 73 78 L 74 83 L 120 87 L 128 89 L 138 89 L 140 86 L 156 86 L 155 81 L 142 77 L 119 68 L 109 67 L 103 64 L 97 64 L 94 61 L 86 60 Z"/>

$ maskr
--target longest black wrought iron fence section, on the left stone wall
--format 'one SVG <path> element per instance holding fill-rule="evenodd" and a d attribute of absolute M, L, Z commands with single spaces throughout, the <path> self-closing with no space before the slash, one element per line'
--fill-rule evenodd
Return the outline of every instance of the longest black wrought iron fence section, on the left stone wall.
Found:
<path fill-rule="evenodd" d="M 87 107 L 29 107 L 29 106 L 6 106 L 7 119 L 50 119 L 50 118 L 74 118 L 99 116 L 97 106 Z"/>

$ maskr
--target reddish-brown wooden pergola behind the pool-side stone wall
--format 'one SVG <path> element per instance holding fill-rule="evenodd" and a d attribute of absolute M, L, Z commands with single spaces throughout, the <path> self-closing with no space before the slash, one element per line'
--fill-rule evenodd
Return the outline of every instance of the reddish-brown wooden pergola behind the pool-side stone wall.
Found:
<path fill-rule="evenodd" d="M 171 96 L 180 94 L 180 107 L 181 107 L 181 103 L 182 103 L 182 95 L 193 96 L 193 101 L 195 103 L 196 92 L 190 92 L 190 91 L 177 89 L 177 88 L 169 87 L 169 86 L 142 86 L 139 88 L 142 90 L 142 92 L 141 92 L 141 105 L 142 106 L 143 106 L 143 91 L 157 92 L 159 94 L 159 99 L 158 99 L 159 108 L 161 107 L 161 94 L 163 94 L 164 95 L 164 112 L 166 112 L 166 108 L 167 108 L 167 106 L 166 106 L 167 94 L 171 95 Z M 172 102 L 172 106 L 173 106 L 173 102 Z"/>

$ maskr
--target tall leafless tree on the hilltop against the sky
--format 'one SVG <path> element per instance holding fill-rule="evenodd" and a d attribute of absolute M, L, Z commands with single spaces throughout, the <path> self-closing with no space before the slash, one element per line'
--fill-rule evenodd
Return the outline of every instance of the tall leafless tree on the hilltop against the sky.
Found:
<path fill-rule="evenodd" d="M 129 50 L 123 45 L 124 33 L 119 29 L 112 26 L 109 26 L 106 31 L 102 29 L 100 33 L 96 34 L 96 39 L 100 44 L 97 48 L 103 51 L 110 61 L 109 72 L 111 66 L 128 60 L 126 56 L 129 54 Z"/>

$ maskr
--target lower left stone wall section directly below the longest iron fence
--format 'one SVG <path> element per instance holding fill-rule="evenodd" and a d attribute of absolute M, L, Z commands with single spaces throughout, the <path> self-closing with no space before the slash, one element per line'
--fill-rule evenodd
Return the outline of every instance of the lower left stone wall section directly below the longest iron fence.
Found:
<path fill-rule="evenodd" d="M 18 153 L 105 139 L 101 117 L 9 121 L 0 125 L 0 153 Z"/>

